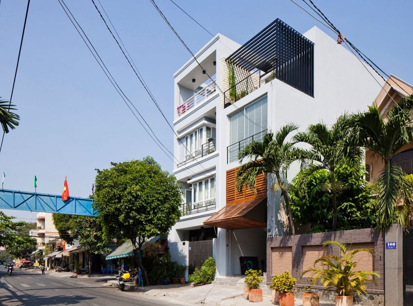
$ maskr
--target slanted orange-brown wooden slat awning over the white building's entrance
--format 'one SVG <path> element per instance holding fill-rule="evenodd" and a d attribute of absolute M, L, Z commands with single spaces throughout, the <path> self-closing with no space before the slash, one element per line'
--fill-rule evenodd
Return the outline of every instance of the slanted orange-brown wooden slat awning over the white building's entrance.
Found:
<path fill-rule="evenodd" d="M 252 219 L 256 217 L 253 210 L 263 203 L 267 203 L 266 197 L 226 205 L 206 219 L 204 224 L 231 230 L 267 226 L 266 222 Z"/>

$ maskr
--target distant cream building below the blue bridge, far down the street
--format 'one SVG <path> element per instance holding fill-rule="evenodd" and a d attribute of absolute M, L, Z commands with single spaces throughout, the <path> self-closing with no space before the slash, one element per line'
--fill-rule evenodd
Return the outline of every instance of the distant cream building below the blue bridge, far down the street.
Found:
<path fill-rule="evenodd" d="M 30 231 L 30 236 L 36 238 L 37 249 L 44 250 L 46 243 L 59 239 L 59 232 L 54 227 L 52 213 L 38 212 L 37 229 Z"/>

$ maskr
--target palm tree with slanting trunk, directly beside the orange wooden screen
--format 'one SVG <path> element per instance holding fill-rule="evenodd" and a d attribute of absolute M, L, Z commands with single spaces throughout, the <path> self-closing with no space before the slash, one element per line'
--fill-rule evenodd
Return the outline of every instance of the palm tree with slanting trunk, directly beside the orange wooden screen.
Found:
<path fill-rule="evenodd" d="M 239 191 L 244 185 L 247 188 L 256 188 L 256 178 L 260 174 L 275 174 L 278 187 L 284 198 L 289 226 L 293 235 L 295 235 L 295 229 L 286 178 L 288 167 L 294 160 L 293 155 L 296 148 L 293 147 L 294 143 L 286 141 L 286 138 L 297 129 L 296 124 L 289 123 L 281 127 L 275 134 L 265 134 L 262 141 L 255 141 L 245 146 L 238 154 L 238 158 L 240 163 L 246 157 L 249 161 L 237 171 L 237 189 Z"/>

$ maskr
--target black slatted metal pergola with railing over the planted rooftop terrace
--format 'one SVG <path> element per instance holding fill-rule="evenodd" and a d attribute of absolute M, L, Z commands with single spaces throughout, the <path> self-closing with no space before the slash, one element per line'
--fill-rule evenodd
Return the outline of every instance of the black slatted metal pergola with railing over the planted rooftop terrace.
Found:
<path fill-rule="evenodd" d="M 248 95 L 261 83 L 274 79 L 314 96 L 314 43 L 280 19 L 274 20 L 226 61 L 234 65 L 236 76 L 240 71 L 252 73 L 224 92 L 224 107 Z"/>

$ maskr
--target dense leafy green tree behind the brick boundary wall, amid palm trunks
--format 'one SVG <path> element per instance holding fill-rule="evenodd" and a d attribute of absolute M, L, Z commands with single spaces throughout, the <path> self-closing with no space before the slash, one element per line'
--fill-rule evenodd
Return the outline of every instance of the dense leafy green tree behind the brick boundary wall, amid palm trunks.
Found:
<path fill-rule="evenodd" d="M 336 184 L 341 186 L 337 194 L 338 230 L 375 226 L 376 200 L 371 195 L 376 193 L 376 188 L 364 180 L 364 167 L 358 165 L 357 168 L 340 165 L 336 169 Z M 293 179 L 290 188 L 293 218 L 298 224 L 310 224 L 312 233 L 332 230 L 329 182 L 330 174 L 324 169 L 309 176 L 300 171 Z"/>

